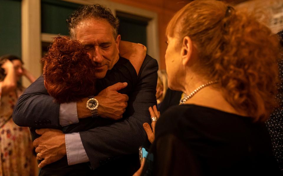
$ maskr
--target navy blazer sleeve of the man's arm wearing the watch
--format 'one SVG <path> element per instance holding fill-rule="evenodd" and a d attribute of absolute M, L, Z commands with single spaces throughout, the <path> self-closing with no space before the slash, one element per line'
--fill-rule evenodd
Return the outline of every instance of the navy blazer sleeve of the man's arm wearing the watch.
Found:
<path fill-rule="evenodd" d="M 14 107 L 13 120 L 18 126 L 62 128 L 59 123 L 60 104 L 47 93 L 40 76 L 19 97 Z"/>

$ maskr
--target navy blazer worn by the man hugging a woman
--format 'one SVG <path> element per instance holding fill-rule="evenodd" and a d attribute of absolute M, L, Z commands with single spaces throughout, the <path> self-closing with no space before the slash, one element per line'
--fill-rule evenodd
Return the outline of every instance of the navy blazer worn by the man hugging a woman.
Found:
<path fill-rule="evenodd" d="M 137 154 L 139 146 L 147 141 L 147 135 L 142 124 L 145 122 L 150 123 L 148 107 L 156 104 L 157 70 L 157 61 L 147 55 L 141 66 L 139 75 L 136 77 L 136 82 L 133 84 L 132 92 L 129 94 L 126 110 L 127 115 L 123 115 L 123 119 L 121 120 L 113 121 L 103 118 L 86 118 L 80 119 L 79 124 L 62 128 L 59 124 L 60 104 L 55 103 L 53 97 L 47 93 L 43 78 L 39 78 L 31 84 L 22 96 L 19 97 L 14 108 L 13 120 L 19 126 L 32 127 L 32 133 L 34 133 L 35 128 L 58 128 L 62 129 L 65 133 L 80 131 L 80 137 L 90 159 L 92 169 L 98 168 L 97 170 L 100 170 L 99 173 L 105 173 L 108 168 L 105 167 L 107 163 L 112 163 L 112 165 L 119 165 L 119 168 L 124 166 L 121 168 L 122 172 L 123 170 L 127 170 L 130 165 L 123 164 L 119 160 L 126 155 Z M 101 87 L 101 90 L 108 86 L 110 85 L 105 84 L 104 87 Z M 123 162 L 127 162 L 131 160 L 130 158 L 122 160 Z M 131 162 L 129 161 L 129 164 Z M 57 172 L 54 171 L 56 168 L 68 170 L 70 168 L 81 168 L 84 166 L 82 164 L 68 166 L 67 157 L 65 156 L 61 160 L 49 164 L 44 168 L 50 168 L 55 173 Z M 105 169 L 101 169 L 103 167 Z M 115 173 L 118 174 L 117 171 Z"/>

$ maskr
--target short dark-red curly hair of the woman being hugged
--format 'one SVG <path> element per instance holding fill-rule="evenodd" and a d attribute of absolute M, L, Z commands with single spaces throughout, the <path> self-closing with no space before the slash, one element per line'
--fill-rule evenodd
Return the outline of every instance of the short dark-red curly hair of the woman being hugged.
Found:
<path fill-rule="evenodd" d="M 55 37 L 41 63 L 47 92 L 58 103 L 95 93 L 95 66 L 79 41 Z"/>

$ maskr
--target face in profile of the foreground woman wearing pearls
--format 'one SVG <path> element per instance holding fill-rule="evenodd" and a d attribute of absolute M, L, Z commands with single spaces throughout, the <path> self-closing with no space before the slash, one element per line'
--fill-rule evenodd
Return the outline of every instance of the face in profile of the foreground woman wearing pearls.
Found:
<path fill-rule="evenodd" d="M 165 53 L 166 72 L 168 75 L 168 87 L 176 90 L 177 80 L 180 77 L 180 68 L 182 68 L 181 45 L 175 37 L 167 36 L 167 49 Z"/>

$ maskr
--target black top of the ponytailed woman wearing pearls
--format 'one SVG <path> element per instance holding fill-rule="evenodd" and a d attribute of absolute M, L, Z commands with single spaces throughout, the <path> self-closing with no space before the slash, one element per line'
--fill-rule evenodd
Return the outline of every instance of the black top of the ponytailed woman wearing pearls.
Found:
<path fill-rule="evenodd" d="M 264 123 L 197 105 L 158 120 L 142 175 L 280 175 Z"/>

